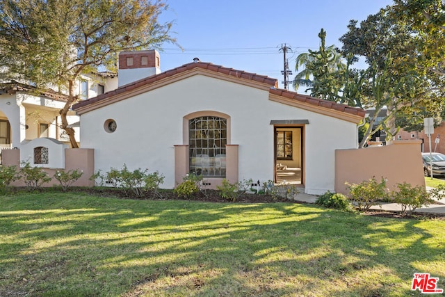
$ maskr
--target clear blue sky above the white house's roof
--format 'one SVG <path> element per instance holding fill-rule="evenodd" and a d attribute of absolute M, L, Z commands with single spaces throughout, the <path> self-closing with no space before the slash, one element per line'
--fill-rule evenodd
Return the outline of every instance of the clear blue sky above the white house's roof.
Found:
<path fill-rule="evenodd" d="M 279 79 L 280 88 L 282 44 L 292 49 L 287 57 L 295 74 L 296 56 L 318 49 L 321 28 L 327 32 L 327 46 L 341 47 L 339 38 L 346 33 L 350 19 L 360 22 L 392 4 L 391 0 L 166 1 L 169 10 L 160 21 L 175 21 L 172 35 L 184 51 L 165 45 L 160 52 L 162 71 L 198 57 L 203 62 Z"/>

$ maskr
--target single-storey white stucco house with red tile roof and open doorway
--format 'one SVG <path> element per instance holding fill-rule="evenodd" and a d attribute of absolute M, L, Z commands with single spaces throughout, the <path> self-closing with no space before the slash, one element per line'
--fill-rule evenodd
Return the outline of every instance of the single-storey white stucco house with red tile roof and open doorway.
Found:
<path fill-rule="evenodd" d="M 335 150 L 357 148 L 362 109 L 197 59 L 158 73 L 156 51 L 147 54 L 154 65 L 138 52 L 124 53 L 120 68 L 136 70 L 125 74 L 127 84 L 73 106 L 81 116 L 81 147 L 95 149 L 95 170 L 124 163 L 157 170 L 165 188 L 195 172 L 210 188 L 224 178 L 262 184 L 289 177 L 306 193 L 334 190 Z M 139 67 L 154 75 L 134 81 L 143 77 Z"/>

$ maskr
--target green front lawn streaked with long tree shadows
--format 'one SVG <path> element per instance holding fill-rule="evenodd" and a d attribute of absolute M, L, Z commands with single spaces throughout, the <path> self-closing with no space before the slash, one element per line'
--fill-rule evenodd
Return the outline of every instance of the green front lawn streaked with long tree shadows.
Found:
<path fill-rule="evenodd" d="M 0 197 L 0 296 L 421 296 L 445 221 L 306 204 Z"/>

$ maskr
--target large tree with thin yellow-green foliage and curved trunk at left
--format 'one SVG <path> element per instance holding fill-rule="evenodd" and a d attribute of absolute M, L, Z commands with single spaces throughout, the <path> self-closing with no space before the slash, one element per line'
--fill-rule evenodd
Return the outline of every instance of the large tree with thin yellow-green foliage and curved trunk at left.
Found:
<path fill-rule="evenodd" d="M 175 42 L 172 22 L 158 17 L 162 0 L 4 0 L 0 2 L 0 67 L 3 79 L 59 86 L 69 99 L 61 127 L 77 147 L 67 112 L 78 99 L 76 79 L 99 67 L 115 70 L 119 51 Z"/>

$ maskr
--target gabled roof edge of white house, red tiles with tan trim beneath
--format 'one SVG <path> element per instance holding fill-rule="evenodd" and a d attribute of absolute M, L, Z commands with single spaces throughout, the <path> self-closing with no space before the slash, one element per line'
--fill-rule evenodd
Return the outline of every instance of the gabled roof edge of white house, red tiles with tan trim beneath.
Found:
<path fill-rule="evenodd" d="M 232 83 L 238 83 L 244 86 L 250 86 L 260 90 L 267 90 L 270 101 L 294 106 L 307 111 L 313 111 L 333 118 L 346 120 L 348 122 L 359 123 L 365 114 L 362 109 L 355 107 L 300 95 L 288 90 L 277 89 L 277 79 L 202 62 L 189 63 L 161 74 L 156 74 L 133 83 L 128 83 L 111 92 L 79 102 L 73 106 L 73 109 L 76 113 L 81 115 L 103 106 L 108 106 L 109 104 L 146 93 L 150 90 L 168 86 L 171 83 L 195 75 L 203 75 Z"/>

